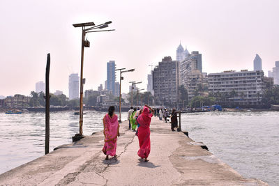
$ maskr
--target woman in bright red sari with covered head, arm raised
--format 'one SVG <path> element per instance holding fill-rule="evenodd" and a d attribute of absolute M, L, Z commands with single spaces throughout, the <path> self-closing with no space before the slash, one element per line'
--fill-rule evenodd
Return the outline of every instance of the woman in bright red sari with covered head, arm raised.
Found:
<path fill-rule="evenodd" d="M 137 130 L 137 137 L 139 138 L 140 150 L 137 151 L 142 159 L 144 158 L 145 162 L 148 162 L 147 157 L 149 156 L 151 145 L 150 145 L 150 123 L 151 117 L 153 116 L 154 111 L 148 105 L 144 106 L 142 114 L 137 118 L 137 123 L 140 124 Z"/>

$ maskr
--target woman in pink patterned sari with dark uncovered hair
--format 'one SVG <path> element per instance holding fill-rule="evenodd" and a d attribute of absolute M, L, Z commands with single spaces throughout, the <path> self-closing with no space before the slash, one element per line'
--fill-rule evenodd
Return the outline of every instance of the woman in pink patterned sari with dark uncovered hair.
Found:
<path fill-rule="evenodd" d="M 105 114 L 105 117 L 103 118 L 105 135 L 103 152 L 107 155 L 105 160 L 109 160 L 109 155 L 116 157 L 116 141 L 117 136 L 119 137 L 119 123 L 118 117 L 114 114 L 114 111 L 114 106 L 110 106 L 108 114 Z"/>

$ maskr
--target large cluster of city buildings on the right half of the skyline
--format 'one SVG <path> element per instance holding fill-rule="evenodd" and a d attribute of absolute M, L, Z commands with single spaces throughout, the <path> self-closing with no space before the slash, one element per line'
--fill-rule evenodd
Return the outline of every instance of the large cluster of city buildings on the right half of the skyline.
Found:
<path fill-rule="evenodd" d="M 279 61 L 269 76 L 276 84 Z M 202 70 L 202 54 L 188 52 L 180 44 L 176 49 L 176 60 L 166 56 L 148 75 L 147 90 L 153 91 L 156 104 L 176 106 L 179 104 L 179 86 L 188 91 L 188 101 L 197 95 L 227 95 L 227 100 L 239 105 L 261 104 L 264 87 L 262 59 L 256 54 L 254 70 L 234 70 L 210 73 Z M 233 92 L 233 94 L 232 94 Z"/>

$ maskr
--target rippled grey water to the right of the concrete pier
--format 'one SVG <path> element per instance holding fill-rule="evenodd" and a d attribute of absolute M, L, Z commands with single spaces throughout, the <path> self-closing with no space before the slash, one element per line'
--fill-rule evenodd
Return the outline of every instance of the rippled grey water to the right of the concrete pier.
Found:
<path fill-rule="evenodd" d="M 279 112 L 182 114 L 181 127 L 246 178 L 279 185 Z"/>

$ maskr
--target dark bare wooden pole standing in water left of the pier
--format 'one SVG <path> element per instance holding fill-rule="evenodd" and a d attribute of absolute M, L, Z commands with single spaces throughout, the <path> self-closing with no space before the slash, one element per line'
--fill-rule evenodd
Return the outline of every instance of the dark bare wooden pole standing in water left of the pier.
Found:
<path fill-rule="evenodd" d="M 45 155 L 50 152 L 50 54 L 45 70 Z"/>

